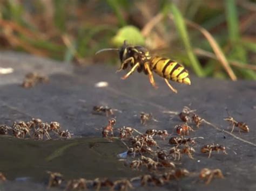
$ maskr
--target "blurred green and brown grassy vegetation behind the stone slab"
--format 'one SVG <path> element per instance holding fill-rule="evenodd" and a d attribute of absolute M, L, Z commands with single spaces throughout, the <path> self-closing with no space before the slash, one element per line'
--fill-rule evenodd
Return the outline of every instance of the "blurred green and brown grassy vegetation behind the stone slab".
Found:
<path fill-rule="evenodd" d="M 250 0 L 0 0 L 0 50 L 79 65 L 119 63 L 127 39 L 198 76 L 256 80 L 256 2 Z"/>

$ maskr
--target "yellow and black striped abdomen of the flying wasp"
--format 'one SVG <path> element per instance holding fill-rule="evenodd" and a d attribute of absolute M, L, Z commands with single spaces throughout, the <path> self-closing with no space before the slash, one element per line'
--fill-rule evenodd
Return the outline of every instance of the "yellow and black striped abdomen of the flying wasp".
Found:
<path fill-rule="evenodd" d="M 156 56 L 150 64 L 152 70 L 165 79 L 191 84 L 187 70 L 176 61 Z"/>

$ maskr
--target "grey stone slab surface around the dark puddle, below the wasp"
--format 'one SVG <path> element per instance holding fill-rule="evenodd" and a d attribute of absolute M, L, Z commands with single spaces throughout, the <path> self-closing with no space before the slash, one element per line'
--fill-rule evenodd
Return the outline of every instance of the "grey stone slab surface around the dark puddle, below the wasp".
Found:
<path fill-rule="evenodd" d="M 170 115 L 163 111 L 181 111 L 185 105 L 191 105 L 208 122 L 230 131 L 228 123 L 223 120 L 227 117 L 225 108 L 228 108 L 237 121 L 246 122 L 250 126 L 250 132 L 239 134 L 235 129 L 233 135 L 237 137 L 234 137 L 210 125 L 201 125 L 196 132 L 191 133 L 192 137 L 204 137 L 195 145 L 195 159 L 184 157 L 181 160 L 183 167 L 191 172 L 199 172 L 204 167 L 220 168 L 225 179 L 213 180 L 207 186 L 202 182 L 191 183 L 191 179 L 186 179 L 175 182 L 166 189 L 256 189 L 255 81 L 200 79 L 192 75 L 191 86 L 171 82 L 178 89 L 178 94 L 174 94 L 160 77 L 155 77 L 159 88 L 154 89 L 146 75 L 134 73 L 129 79 L 120 80 L 124 72 L 116 74 L 116 68 L 108 65 L 81 68 L 26 54 L 0 52 L 0 67 L 14 68 L 14 73 L 0 74 L 2 124 L 11 125 L 14 121 L 37 117 L 48 122 L 60 122 L 75 137 L 100 137 L 100 132 L 95 128 L 105 126 L 108 118 L 104 115 L 93 115 L 91 111 L 94 105 L 108 105 L 122 111 L 115 112 L 117 127 L 133 126 L 140 132 L 145 132 L 147 128 L 173 132 L 174 126 L 181 122 L 177 116 L 170 120 Z M 31 89 L 22 88 L 20 84 L 24 75 L 35 71 L 48 75 L 50 82 L 38 84 Z M 108 82 L 109 86 L 95 87 L 100 81 Z M 146 126 L 141 125 L 139 114 L 142 111 L 151 112 L 158 122 L 151 121 Z M 202 145 L 212 143 L 224 144 L 228 154 L 212 153 L 212 157 L 208 159 L 207 155 L 200 153 Z M 20 184 L 7 184 L 5 188 L 15 190 L 15 185 Z M 22 183 L 21 187 L 23 186 L 28 185 Z"/>

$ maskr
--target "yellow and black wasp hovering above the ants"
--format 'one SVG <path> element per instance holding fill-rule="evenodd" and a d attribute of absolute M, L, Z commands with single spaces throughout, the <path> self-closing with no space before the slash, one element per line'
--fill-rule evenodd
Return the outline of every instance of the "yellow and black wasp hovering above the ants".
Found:
<path fill-rule="evenodd" d="M 163 77 L 167 86 L 174 92 L 178 91 L 174 89 L 168 80 L 172 80 L 179 83 L 191 84 L 188 71 L 180 63 L 173 61 L 168 58 L 162 58 L 160 56 L 152 56 L 150 52 L 143 46 L 132 46 L 128 45 L 127 41 L 120 48 L 104 48 L 98 51 L 96 54 L 103 51 L 118 51 L 119 58 L 122 62 L 121 67 L 117 72 L 122 69 L 131 67 L 130 71 L 122 77 L 123 80 L 127 79 L 134 70 L 144 72 L 149 75 L 150 83 L 153 87 L 157 88 L 154 82 L 153 72 L 157 73 L 159 76 Z"/>

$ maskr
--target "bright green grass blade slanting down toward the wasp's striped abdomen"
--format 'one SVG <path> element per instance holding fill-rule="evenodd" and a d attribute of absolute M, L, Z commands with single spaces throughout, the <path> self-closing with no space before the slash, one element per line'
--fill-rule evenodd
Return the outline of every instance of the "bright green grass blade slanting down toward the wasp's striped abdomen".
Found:
<path fill-rule="evenodd" d="M 194 53 L 192 51 L 192 47 L 191 47 L 191 44 L 190 44 L 190 39 L 188 37 L 188 33 L 187 33 L 187 29 L 186 29 L 186 25 L 185 25 L 183 16 L 181 15 L 177 6 L 174 5 L 173 3 L 171 4 L 171 12 L 173 14 L 174 23 L 176 25 L 176 28 L 177 28 L 178 33 L 180 35 L 180 38 L 183 41 L 183 44 L 185 46 L 188 58 L 190 59 L 191 66 L 192 66 L 194 72 L 198 76 L 205 76 L 203 68 L 201 67 L 196 55 L 194 55 Z"/>

